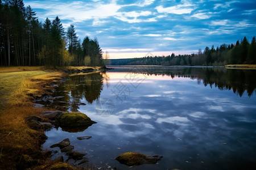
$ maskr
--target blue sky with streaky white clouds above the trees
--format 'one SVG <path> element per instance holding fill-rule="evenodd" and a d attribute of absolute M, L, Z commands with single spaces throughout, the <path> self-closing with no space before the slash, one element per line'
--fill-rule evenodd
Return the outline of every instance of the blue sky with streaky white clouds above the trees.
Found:
<path fill-rule="evenodd" d="M 42 22 L 59 16 L 81 41 L 97 37 L 110 58 L 191 54 L 256 36 L 256 1 L 23 1 Z"/>

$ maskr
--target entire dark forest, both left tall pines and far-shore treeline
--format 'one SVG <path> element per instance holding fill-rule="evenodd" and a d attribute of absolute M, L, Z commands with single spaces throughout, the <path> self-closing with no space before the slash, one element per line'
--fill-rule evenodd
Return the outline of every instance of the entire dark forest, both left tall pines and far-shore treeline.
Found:
<path fill-rule="evenodd" d="M 105 66 L 107 65 L 227 65 L 256 64 L 255 36 L 236 44 L 208 46 L 198 53 L 104 59 L 97 38 L 81 42 L 74 25 L 67 31 L 58 16 L 42 23 L 22 0 L 0 0 L 0 66 Z M 106 54 L 108 56 L 108 54 Z"/>

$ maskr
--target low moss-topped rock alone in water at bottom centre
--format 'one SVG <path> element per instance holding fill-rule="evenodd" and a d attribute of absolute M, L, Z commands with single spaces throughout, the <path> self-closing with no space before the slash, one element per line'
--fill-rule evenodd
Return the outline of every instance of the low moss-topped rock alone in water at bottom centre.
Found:
<path fill-rule="evenodd" d="M 144 155 L 135 152 L 126 152 L 115 158 L 119 163 L 128 166 L 142 165 L 142 164 L 156 164 L 163 156 L 158 155 Z"/>

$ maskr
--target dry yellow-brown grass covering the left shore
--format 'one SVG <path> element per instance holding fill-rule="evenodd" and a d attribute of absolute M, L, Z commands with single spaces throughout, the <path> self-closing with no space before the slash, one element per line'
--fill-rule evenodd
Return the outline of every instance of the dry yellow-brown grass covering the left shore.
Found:
<path fill-rule="evenodd" d="M 42 108 L 34 108 L 27 94 L 40 95 L 51 88 L 64 74 L 57 71 L 18 71 L 0 74 L 0 102 L 5 105 L 0 114 L 0 169 L 15 169 L 21 155 L 30 155 L 38 164 L 47 156 L 42 152 L 43 130 L 32 130 L 27 117 L 40 115 Z"/>

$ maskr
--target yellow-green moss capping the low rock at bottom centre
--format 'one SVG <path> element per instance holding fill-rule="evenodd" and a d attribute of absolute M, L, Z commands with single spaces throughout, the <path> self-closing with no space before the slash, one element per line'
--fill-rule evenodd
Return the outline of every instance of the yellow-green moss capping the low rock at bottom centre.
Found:
<path fill-rule="evenodd" d="M 144 154 L 139 154 L 136 152 L 126 152 L 124 154 L 121 154 L 115 158 L 118 160 L 118 162 L 126 165 L 140 165 L 142 164 L 142 160 L 146 159 L 146 155 Z"/>

